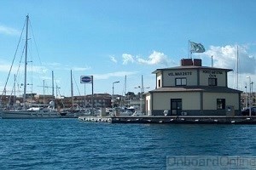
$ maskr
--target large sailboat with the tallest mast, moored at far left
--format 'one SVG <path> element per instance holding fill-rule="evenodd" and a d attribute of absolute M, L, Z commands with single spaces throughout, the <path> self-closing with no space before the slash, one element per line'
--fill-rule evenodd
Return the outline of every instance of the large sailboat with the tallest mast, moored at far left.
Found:
<path fill-rule="evenodd" d="M 24 92 L 23 105 L 21 108 L 3 108 L 0 116 L 3 119 L 21 119 L 21 118 L 58 118 L 61 115 L 55 111 L 55 102 L 50 101 L 48 107 L 44 105 L 27 105 L 26 99 L 26 65 L 27 65 L 27 40 L 28 40 L 28 22 L 29 16 L 26 15 L 26 44 L 25 44 L 25 70 L 24 70 Z"/>

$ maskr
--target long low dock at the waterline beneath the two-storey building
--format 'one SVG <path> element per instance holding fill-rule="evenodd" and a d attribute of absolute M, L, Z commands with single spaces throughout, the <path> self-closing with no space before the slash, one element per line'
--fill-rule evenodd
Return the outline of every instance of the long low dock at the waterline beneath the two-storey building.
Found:
<path fill-rule="evenodd" d="M 256 116 L 79 116 L 84 122 L 159 124 L 256 124 Z"/>

